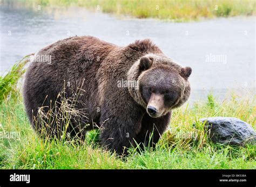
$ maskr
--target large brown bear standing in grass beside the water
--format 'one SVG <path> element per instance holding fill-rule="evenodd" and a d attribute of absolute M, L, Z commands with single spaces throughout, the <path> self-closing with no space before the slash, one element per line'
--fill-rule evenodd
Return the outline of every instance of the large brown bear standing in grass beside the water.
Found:
<path fill-rule="evenodd" d="M 190 96 L 191 68 L 174 63 L 150 39 L 120 47 L 95 37 L 70 37 L 45 47 L 36 59 L 23 87 L 33 128 L 42 133 L 43 124 L 34 122 L 39 109 L 49 112 L 64 86 L 66 98 L 79 87 L 75 107 L 85 115 L 74 117 L 66 133 L 84 137 L 98 127 L 100 143 L 118 154 L 127 154 L 131 145 L 154 147 L 169 126 L 172 109 Z M 50 136 L 57 127 L 51 126 Z"/>

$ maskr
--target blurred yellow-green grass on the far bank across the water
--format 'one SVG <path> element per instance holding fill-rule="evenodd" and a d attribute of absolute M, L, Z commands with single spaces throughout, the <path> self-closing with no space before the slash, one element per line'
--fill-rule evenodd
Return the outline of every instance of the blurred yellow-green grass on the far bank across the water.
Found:
<path fill-rule="evenodd" d="M 253 0 L 36 0 L 26 1 L 27 4 L 59 6 L 82 6 L 105 13 L 122 16 L 129 15 L 136 18 L 157 18 L 187 22 L 200 18 L 251 16 L 255 15 L 255 1 Z"/>

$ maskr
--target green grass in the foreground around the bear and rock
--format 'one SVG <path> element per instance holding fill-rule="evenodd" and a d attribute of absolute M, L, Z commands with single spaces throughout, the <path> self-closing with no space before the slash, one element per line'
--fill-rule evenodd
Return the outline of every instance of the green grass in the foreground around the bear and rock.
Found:
<path fill-rule="evenodd" d="M 0 108 L 0 133 L 20 133 L 19 140 L 0 138 L 2 169 L 256 169 L 255 145 L 213 144 L 198 122 L 201 117 L 234 116 L 255 129 L 256 96 L 241 99 L 233 94 L 231 99 L 217 102 L 209 95 L 207 101 L 176 109 L 170 129 L 156 149 L 139 154 L 131 148 L 126 160 L 100 148 L 97 131 L 91 131 L 82 144 L 42 141 L 29 124 L 20 94 L 4 100 Z"/>

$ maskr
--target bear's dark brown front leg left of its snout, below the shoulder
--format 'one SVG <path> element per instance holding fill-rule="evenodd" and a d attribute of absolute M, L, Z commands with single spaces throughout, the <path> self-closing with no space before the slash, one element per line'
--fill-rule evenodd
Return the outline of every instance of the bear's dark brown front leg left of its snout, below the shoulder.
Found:
<path fill-rule="evenodd" d="M 141 128 L 143 112 L 134 106 L 115 108 L 102 111 L 100 143 L 107 149 L 116 151 L 118 155 L 126 155 L 127 148 Z"/>

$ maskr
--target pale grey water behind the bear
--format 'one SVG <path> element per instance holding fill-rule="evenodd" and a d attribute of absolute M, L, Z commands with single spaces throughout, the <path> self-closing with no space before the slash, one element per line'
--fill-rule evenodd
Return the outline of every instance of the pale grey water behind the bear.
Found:
<path fill-rule="evenodd" d="M 120 46 L 151 38 L 179 64 L 190 66 L 191 101 L 209 92 L 255 94 L 255 17 L 191 23 L 114 17 L 83 8 L 46 9 L 4 3 L 0 8 L 0 72 L 26 54 L 70 36 L 91 35 Z"/>

